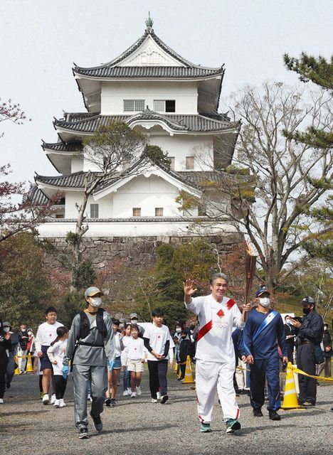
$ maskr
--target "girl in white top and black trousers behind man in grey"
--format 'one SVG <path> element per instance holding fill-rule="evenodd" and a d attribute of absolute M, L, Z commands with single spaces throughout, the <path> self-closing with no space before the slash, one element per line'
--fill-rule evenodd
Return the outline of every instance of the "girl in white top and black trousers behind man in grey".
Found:
<path fill-rule="evenodd" d="M 64 407 L 63 395 L 66 390 L 67 378 L 63 378 L 63 358 L 67 348 L 68 328 L 65 326 L 57 328 L 57 338 L 48 348 L 48 358 L 53 365 L 53 378 L 56 392 L 54 407 Z"/>

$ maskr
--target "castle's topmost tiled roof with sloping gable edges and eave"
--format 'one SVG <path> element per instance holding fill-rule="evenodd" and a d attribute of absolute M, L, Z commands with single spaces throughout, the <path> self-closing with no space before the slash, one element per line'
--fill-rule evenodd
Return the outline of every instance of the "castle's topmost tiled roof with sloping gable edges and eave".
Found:
<path fill-rule="evenodd" d="M 137 48 L 144 42 L 147 36 L 151 38 L 172 58 L 178 60 L 183 67 L 116 67 L 122 60 L 134 53 Z M 185 67 L 185 68 L 184 68 Z M 132 44 L 119 57 L 111 60 L 104 65 L 83 68 L 75 65 L 73 73 L 88 75 L 90 77 L 204 77 L 209 75 L 218 75 L 223 73 L 222 68 L 207 68 L 200 65 L 194 65 L 185 58 L 181 57 L 176 51 L 169 48 L 157 35 L 152 28 L 147 28 L 144 34 L 134 44 Z"/>

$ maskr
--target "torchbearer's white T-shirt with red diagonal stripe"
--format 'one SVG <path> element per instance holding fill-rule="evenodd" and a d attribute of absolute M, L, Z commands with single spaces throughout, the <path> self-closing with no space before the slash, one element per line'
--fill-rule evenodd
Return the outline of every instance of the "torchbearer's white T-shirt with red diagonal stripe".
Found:
<path fill-rule="evenodd" d="M 196 358 L 211 362 L 235 363 L 235 350 L 231 333 L 236 326 L 243 329 L 241 313 L 233 299 L 223 297 L 216 301 L 212 294 L 194 297 L 186 308 L 199 316 L 199 336 Z"/>

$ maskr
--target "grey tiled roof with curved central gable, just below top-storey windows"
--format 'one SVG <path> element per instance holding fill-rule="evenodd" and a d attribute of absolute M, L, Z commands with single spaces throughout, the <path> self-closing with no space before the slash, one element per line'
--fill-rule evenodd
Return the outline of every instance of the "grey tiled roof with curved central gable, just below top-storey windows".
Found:
<path fill-rule="evenodd" d="M 75 132 L 93 133 L 97 127 L 102 125 L 108 125 L 112 122 L 133 122 L 134 119 L 164 119 L 166 123 L 176 123 L 172 127 L 178 130 L 188 130 L 189 132 L 211 132 L 221 131 L 223 129 L 238 128 L 238 122 L 228 122 L 220 119 L 213 119 L 205 117 L 200 114 L 159 114 L 157 112 L 149 111 L 141 112 L 134 116 L 132 115 L 100 115 L 97 114 L 94 117 L 88 119 L 79 120 L 78 122 L 65 122 L 64 120 L 55 120 L 53 122 L 55 127 L 68 129 Z"/>

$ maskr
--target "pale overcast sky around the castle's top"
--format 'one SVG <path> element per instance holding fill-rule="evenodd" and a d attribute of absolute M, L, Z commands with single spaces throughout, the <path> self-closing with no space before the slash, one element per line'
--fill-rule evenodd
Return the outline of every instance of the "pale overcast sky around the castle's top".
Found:
<path fill-rule="evenodd" d="M 57 175 L 41 149 L 56 142 L 53 117 L 86 112 L 73 62 L 112 60 L 142 36 L 148 11 L 154 32 L 193 63 L 225 64 L 221 99 L 264 80 L 297 84 L 282 55 L 332 54 L 329 0 L 1 0 L 0 98 L 20 103 L 31 122 L 0 123 L 0 165 L 11 181 Z"/>

